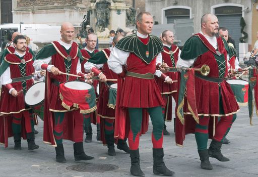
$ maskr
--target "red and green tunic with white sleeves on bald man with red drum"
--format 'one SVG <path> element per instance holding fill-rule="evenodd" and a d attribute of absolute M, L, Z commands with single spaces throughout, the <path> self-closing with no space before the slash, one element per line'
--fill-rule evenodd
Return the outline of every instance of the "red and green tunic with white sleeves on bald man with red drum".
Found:
<path fill-rule="evenodd" d="M 72 47 L 66 49 L 59 41 L 53 41 L 39 51 L 34 65 L 38 70 L 46 69 L 46 65 L 51 62 L 50 64 L 61 72 L 77 74 L 81 72 L 80 61 L 83 61 L 82 55 L 76 42 L 72 43 Z M 76 80 L 76 77 L 63 74 L 53 75 L 50 72 L 46 74 L 43 141 L 53 146 L 56 146 L 53 136 L 53 112 L 68 112 L 75 109 L 71 107 L 70 110 L 67 110 L 62 106 L 62 101 L 59 97 L 59 84 L 73 80 Z M 68 116 L 69 119 L 65 119 L 67 122 L 64 122 L 66 128 L 63 129 L 63 138 L 75 141 L 74 121 L 83 121 L 82 114 L 77 114 L 77 117 L 75 117 L 74 111 L 72 111 L 65 116 Z"/>

